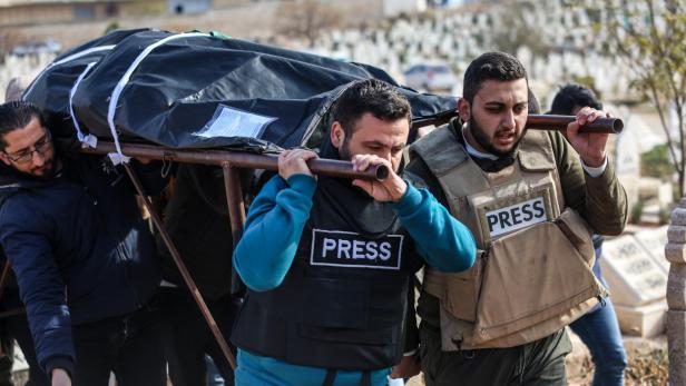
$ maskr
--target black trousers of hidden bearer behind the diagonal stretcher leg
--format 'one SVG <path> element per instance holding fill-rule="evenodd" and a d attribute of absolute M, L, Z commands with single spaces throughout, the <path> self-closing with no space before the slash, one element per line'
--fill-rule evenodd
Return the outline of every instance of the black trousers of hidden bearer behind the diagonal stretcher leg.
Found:
<path fill-rule="evenodd" d="M 214 300 L 205 299 L 205 301 L 224 338 L 228 342 L 241 306 L 239 301 L 229 295 Z M 160 306 L 165 353 L 174 386 L 206 384 L 205 354 L 212 357 L 225 384 L 233 385 L 234 372 L 188 289 L 160 288 Z M 229 347 L 236 355 L 236 348 L 231 343 Z"/>

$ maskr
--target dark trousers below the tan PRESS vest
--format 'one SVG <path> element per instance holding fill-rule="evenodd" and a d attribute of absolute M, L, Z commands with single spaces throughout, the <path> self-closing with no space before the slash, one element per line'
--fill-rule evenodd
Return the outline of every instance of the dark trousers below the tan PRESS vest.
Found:
<path fill-rule="evenodd" d="M 565 386 L 565 330 L 510 348 L 442 352 L 439 331 L 420 327 L 421 365 L 427 386 Z"/>

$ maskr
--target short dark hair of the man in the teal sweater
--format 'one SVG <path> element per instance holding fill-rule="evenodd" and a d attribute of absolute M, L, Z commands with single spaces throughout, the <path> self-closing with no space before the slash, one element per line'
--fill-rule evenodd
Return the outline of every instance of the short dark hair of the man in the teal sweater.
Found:
<path fill-rule="evenodd" d="M 382 80 L 366 79 L 343 91 L 333 109 L 331 122 L 341 123 L 345 138 L 350 139 L 355 123 L 365 112 L 384 121 L 411 121 L 410 102 L 405 96 Z"/>

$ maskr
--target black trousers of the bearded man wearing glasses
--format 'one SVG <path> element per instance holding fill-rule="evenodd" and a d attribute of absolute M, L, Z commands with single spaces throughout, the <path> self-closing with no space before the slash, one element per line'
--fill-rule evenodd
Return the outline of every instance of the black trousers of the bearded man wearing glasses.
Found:
<path fill-rule="evenodd" d="M 167 376 L 159 308 L 72 326 L 75 386 L 106 386 L 110 372 L 120 386 L 165 386 Z"/>

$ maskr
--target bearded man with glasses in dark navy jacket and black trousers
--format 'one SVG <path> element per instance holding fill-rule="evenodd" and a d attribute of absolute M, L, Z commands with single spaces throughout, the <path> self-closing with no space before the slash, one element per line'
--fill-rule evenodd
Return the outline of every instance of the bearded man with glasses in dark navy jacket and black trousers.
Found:
<path fill-rule="evenodd" d="M 0 105 L 0 243 L 52 385 L 164 385 L 155 241 L 125 175 L 67 157 L 32 103 Z M 166 184 L 139 165 L 146 188 Z"/>

